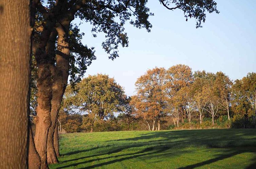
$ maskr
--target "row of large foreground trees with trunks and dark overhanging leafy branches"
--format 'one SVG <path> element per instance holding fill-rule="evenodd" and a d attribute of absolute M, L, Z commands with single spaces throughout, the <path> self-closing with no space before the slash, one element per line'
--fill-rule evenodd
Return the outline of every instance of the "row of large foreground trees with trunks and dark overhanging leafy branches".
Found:
<path fill-rule="evenodd" d="M 0 103 L 1 117 L 6 121 L 0 130 L 4 136 L 0 140 L 3 159 L 0 168 L 47 169 L 48 164 L 58 163 L 56 122 L 68 77 L 71 84 L 79 82 L 96 59 L 95 49 L 81 43 L 85 34 L 72 21 L 78 19 L 93 25 L 94 37 L 99 32 L 105 33 L 102 47 L 114 59 L 118 57 L 118 45 L 128 46 L 125 23 L 150 32 L 152 25 L 148 19 L 153 14 L 146 3 L 144 0 L 0 2 L 0 19 L 5 23 L 0 25 Z M 159 3 L 168 10 L 181 10 L 186 20 L 195 18 L 197 28 L 205 22 L 207 12 L 219 13 L 213 0 L 159 0 Z M 30 85 L 33 82 L 35 85 Z M 29 101 L 30 86 L 34 87 L 31 96 L 36 102 Z M 35 109 L 29 117 L 30 106 Z M 34 132 L 29 119 L 35 124 Z"/>

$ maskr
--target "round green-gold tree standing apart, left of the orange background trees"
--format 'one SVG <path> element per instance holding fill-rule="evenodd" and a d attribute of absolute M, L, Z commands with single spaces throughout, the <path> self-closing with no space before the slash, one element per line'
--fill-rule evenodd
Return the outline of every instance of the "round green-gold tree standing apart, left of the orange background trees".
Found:
<path fill-rule="evenodd" d="M 95 120 L 103 121 L 113 116 L 114 112 L 121 112 L 126 99 L 123 88 L 114 78 L 103 74 L 88 76 L 76 84 L 72 93 L 67 94 L 65 99 L 71 100 L 71 106 L 88 113 L 85 118 L 88 118 L 91 129 Z"/>

